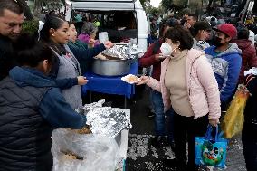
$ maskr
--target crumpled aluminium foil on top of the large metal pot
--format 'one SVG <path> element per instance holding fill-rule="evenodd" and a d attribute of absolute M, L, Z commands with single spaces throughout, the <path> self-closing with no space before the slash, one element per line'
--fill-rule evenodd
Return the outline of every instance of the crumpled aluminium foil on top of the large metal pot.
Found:
<path fill-rule="evenodd" d="M 135 55 L 132 55 L 133 46 L 130 45 L 114 45 L 110 49 L 106 49 L 101 52 L 104 55 L 111 56 L 114 58 L 119 58 L 120 60 L 128 60 L 136 58 Z"/>

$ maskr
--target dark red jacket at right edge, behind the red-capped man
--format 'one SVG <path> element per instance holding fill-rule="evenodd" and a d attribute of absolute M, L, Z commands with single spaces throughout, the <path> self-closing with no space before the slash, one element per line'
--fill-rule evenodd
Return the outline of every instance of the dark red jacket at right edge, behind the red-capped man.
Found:
<path fill-rule="evenodd" d="M 243 83 L 244 71 L 257 67 L 256 50 L 251 45 L 251 41 L 247 39 L 234 40 L 233 43 L 237 43 L 238 47 L 242 50 L 242 67 L 239 75 L 238 83 Z"/>

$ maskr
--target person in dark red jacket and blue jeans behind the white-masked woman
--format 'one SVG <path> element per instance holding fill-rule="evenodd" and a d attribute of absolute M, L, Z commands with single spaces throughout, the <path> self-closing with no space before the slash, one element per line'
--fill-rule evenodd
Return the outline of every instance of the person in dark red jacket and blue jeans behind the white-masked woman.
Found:
<path fill-rule="evenodd" d="M 177 21 L 175 19 L 173 20 L 167 20 L 162 21 L 159 24 L 159 39 L 157 42 L 152 43 L 149 47 L 147 52 L 138 60 L 139 66 L 141 67 L 150 67 L 153 66 L 153 71 L 151 76 L 159 81 L 160 79 L 160 72 L 161 72 L 161 62 L 164 60 L 164 58 L 161 56 L 161 44 L 165 42 L 164 40 L 164 34 L 170 27 L 174 27 L 177 25 Z M 174 147 L 173 143 L 173 124 L 172 124 L 172 111 L 168 111 L 167 115 L 169 116 L 169 119 L 165 118 L 165 113 L 163 109 L 163 100 L 161 93 L 157 90 L 150 90 L 150 99 L 151 104 L 154 109 L 154 117 L 155 117 L 155 133 L 156 136 L 151 140 L 151 145 L 154 147 L 158 147 L 161 145 L 166 144 L 167 141 L 166 138 L 166 120 L 170 122 L 170 131 L 168 133 L 168 142 L 170 143 L 171 147 Z M 170 114 L 170 115 L 169 115 Z"/>

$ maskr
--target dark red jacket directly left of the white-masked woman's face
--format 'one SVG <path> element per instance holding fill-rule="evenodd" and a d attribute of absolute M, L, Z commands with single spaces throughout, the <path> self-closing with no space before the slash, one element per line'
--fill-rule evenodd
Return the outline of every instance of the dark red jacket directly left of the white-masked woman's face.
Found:
<path fill-rule="evenodd" d="M 160 44 L 163 43 L 162 39 L 158 40 Z M 141 67 L 149 67 L 153 65 L 153 72 L 152 72 L 152 77 L 156 79 L 157 81 L 160 80 L 160 71 L 161 71 L 161 62 L 162 61 L 157 61 L 155 59 L 155 54 L 153 52 L 155 47 L 155 43 L 152 43 L 149 47 L 147 52 L 139 59 L 139 66 Z M 161 53 L 160 48 L 157 51 L 157 54 Z"/>

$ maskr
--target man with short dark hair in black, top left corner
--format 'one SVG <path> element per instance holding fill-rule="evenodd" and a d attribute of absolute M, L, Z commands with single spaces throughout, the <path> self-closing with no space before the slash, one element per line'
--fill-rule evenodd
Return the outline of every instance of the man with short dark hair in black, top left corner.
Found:
<path fill-rule="evenodd" d="M 24 13 L 15 0 L 1 0 L 0 3 L 0 81 L 14 67 L 12 42 L 21 32 Z"/>

